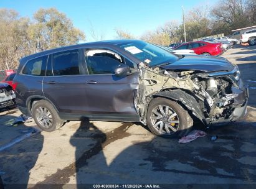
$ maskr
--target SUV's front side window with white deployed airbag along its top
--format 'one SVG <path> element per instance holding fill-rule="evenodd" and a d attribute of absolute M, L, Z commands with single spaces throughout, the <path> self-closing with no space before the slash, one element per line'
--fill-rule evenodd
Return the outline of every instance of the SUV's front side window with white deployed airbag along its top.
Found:
<path fill-rule="evenodd" d="M 124 63 L 120 55 L 105 49 L 86 50 L 85 61 L 89 75 L 115 74 L 115 68 Z"/>

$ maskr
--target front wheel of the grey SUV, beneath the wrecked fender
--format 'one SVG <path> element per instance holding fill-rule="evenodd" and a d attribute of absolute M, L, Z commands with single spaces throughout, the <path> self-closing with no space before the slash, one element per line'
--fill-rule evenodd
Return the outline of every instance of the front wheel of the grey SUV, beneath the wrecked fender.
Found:
<path fill-rule="evenodd" d="M 163 108 L 165 116 L 161 113 L 160 106 Z M 168 107 L 168 116 L 166 116 L 166 107 Z M 160 115 L 163 117 L 160 118 Z M 175 101 L 166 98 L 154 98 L 148 106 L 147 124 L 149 130 L 157 136 L 177 138 L 188 134 L 193 125 L 193 119 Z"/>

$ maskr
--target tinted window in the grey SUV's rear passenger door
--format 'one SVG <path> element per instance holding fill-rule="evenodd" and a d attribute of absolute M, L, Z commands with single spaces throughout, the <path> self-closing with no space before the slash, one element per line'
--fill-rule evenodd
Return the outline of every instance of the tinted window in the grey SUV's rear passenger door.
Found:
<path fill-rule="evenodd" d="M 79 75 L 78 50 L 55 53 L 52 56 L 54 75 Z"/>

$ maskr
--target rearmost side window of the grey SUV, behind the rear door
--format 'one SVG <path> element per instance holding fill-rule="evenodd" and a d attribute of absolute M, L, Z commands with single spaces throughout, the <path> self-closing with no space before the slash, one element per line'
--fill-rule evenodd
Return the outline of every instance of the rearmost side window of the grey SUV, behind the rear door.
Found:
<path fill-rule="evenodd" d="M 45 76 L 47 58 L 48 55 L 29 60 L 23 68 L 22 73 L 25 75 Z"/>

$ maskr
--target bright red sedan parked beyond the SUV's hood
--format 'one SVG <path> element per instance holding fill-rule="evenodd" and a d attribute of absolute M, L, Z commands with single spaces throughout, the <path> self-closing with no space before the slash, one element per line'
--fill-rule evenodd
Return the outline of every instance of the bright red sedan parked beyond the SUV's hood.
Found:
<path fill-rule="evenodd" d="M 186 44 L 179 45 L 174 49 L 192 49 L 197 55 L 208 56 L 218 56 L 224 53 L 224 48 L 221 43 L 209 43 L 204 41 L 188 42 Z"/>

